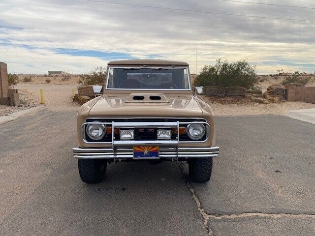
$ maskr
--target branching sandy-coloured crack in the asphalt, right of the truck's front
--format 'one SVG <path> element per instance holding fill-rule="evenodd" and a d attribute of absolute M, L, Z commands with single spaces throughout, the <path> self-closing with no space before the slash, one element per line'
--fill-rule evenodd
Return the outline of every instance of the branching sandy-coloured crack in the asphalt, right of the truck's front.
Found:
<path fill-rule="evenodd" d="M 234 219 L 244 219 L 244 218 L 271 218 L 271 219 L 277 219 L 277 218 L 291 218 L 291 219 L 306 219 L 311 218 L 315 219 L 315 214 L 293 214 L 293 213 L 265 213 L 265 212 L 243 212 L 238 214 L 207 214 L 204 208 L 201 206 L 201 203 L 198 199 L 198 197 L 195 194 L 195 190 L 193 189 L 190 181 L 189 176 L 184 170 L 183 163 L 178 163 L 179 169 L 181 170 L 186 184 L 189 187 L 189 191 L 191 193 L 192 199 L 195 201 L 198 211 L 201 214 L 202 218 L 204 219 L 203 223 L 208 231 L 209 236 L 213 236 L 213 232 L 208 226 L 209 220 L 234 220 Z"/>

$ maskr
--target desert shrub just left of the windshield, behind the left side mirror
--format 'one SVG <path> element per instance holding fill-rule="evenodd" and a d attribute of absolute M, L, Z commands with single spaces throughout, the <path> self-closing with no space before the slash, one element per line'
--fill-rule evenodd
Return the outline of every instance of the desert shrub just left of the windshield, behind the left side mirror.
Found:
<path fill-rule="evenodd" d="M 95 70 L 91 71 L 89 74 L 80 75 L 78 83 L 80 86 L 86 85 L 101 85 L 105 83 L 106 78 L 106 68 L 99 66 Z"/>

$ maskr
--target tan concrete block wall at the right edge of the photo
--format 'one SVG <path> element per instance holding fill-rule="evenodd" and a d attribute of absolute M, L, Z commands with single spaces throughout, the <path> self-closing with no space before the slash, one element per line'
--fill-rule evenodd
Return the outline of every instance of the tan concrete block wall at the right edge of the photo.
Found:
<path fill-rule="evenodd" d="M 315 87 L 286 86 L 288 101 L 315 103 Z"/>

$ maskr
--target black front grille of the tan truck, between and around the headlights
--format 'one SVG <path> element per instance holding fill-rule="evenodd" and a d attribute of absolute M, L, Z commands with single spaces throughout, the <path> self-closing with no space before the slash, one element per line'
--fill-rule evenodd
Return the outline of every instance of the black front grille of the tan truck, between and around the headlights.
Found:
<path fill-rule="evenodd" d="M 191 119 L 191 118 L 185 118 L 185 119 L 176 119 L 176 118 L 96 118 L 96 119 L 87 119 L 86 122 L 93 122 L 93 121 L 100 121 L 100 122 L 193 122 L 193 121 L 202 121 L 206 122 L 205 119 Z M 188 124 L 181 124 L 181 127 L 187 127 Z M 127 128 L 126 128 L 127 129 Z M 171 128 L 165 128 L 165 129 L 170 129 Z M 84 129 L 85 132 L 85 139 L 88 142 L 111 142 L 112 137 L 111 134 L 106 134 L 101 140 L 95 141 L 91 138 L 86 133 L 86 130 Z M 134 140 L 135 141 L 154 141 L 157 140 L 157 132 L 158 128 L 134 128 Z M 205 141 L 207 139 L 207 132 L 204 134 L 204 136 L 197 140 L 197 141 Z M 172 140 L 177 140 L 177 133 L 173 134 L 172 133 Z M 114 134 L 114 140 L 120 140 L 119 133 Z M 191 140 L 187 134 L 180 134 L 179 137 L 180 142 L 185 142 L 185 141 L 195 141 Z"/>

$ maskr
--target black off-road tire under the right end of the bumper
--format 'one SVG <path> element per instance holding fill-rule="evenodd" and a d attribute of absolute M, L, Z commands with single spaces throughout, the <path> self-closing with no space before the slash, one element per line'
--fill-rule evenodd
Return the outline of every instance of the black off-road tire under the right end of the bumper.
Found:
<path fill-rule="evenodd" d="M 212 172 L 212 157 L 209 158 L 191 158 L 188 161 L 189 177 L 194 182 L 208 182 Z"/>

